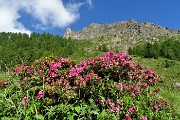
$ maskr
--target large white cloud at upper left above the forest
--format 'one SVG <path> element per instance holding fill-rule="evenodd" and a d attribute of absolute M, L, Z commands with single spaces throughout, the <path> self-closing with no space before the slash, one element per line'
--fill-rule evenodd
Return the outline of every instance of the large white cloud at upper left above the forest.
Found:
<path fill-rule="evenodd" d="M 84 4 L 92 7 L 91 0 L 69 2 L 66 5 L 63 0 L 0 0 L 0 32 L 31 32 L 18 21 L 23 17 L 20 11 L 38 21 L 31 25 L 36 29 L 64 28 L 80 17 L 79 9 Z"/>

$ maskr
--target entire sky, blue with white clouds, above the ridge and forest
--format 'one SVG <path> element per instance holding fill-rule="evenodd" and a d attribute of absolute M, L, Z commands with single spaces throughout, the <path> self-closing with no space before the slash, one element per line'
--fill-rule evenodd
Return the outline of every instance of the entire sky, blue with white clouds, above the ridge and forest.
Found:
<path fill-rule="evenodd" d="M 63 35 L 67 27 L 76 31 L 91 23 L 105 24 L 131 18 L 180 29 L 179 0 L 24 1 L 0 0 L 0 31 Z"/>

